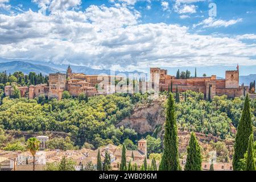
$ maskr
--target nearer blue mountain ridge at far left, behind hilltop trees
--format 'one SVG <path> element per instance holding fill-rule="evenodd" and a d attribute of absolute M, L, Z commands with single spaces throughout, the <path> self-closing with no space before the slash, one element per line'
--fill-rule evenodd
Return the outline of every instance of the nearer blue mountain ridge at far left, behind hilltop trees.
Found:
<path fill-rule="evenodd" d="M 11 61 L 7 63 L 0 63 L 0 71 L 6 71 L 7 73 L 22 71 L 26 74 L 30 72 L 36 72 L 42 73 L 43 75 L 48 75 L 49 73 L 57 72 L 57 69 L 53 69 L 45 65 L 26 63 L 23 61 Z"/>

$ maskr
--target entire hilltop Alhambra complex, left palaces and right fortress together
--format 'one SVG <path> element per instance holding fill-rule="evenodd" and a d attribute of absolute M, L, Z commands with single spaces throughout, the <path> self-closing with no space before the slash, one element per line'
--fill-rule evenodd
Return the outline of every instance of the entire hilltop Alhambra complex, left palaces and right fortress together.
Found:
<path fill-rule="evenodd" d="M 189 77 L 186 79 L 178 79 L 175 76 L 167 74 L 166 69 L 150 68 L 151 84 L 158 82 L 159 89 L 168 90 L 172 85 L 172 92 L 177 89 L 179 92 L 193 90 L 205 94 L 208 99 L 210 97 L 226 95 L 228 97 L 245 96 L 249 92 L 249 86 L 239 85 L 239 67 L 235 71 L 226 71 L 225 79 L 217 79 L 216 75 L 210 77 Z M 101 75 L 85 75 L 84 73 L 72 73 L 69 66 L 67 74 L 50 73 L 49 84 L 21 86 L 21 97 L 33 99 L 44 94 L 48 98 L 57 98 L 61 100 L 62 94 L 67 90 L 71 96 L 79 96 L 84 93 L 87 96 L 96 96 L 97 94 L 108 94 L 108 92 L 99 92 L 97 85 L 105 82 L 110 85 L 110 80 L 121 81 L 121 76 L 101 76 Z M 159 79 L 159 80 L 158 80 Z M 133 88 L 133 87 L 132 87 Z M 141 89 L 141 85 L 139 87 Z M 126 89 L 127 90 L 127 89 Z M 5 86 L 5 95 L 12 96 L 13 86 Z"/>

